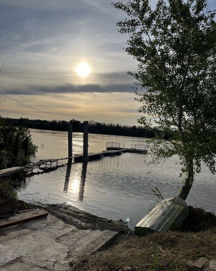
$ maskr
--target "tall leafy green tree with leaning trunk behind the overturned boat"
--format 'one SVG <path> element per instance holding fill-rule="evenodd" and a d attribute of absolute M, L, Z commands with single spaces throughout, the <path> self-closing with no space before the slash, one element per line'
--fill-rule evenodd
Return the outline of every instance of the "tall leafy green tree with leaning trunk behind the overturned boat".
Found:
<path fill-rule="evenodd" d="M 155 9 L 149 0 L 112 5 L 127 14 L 118 31 L 129 35 L 125 51 L 138 61 L 137 72 L 128 72 L 142 103 L 138 122 L 156 134 L 150 163 L 179 156 L 185 176 L 179 197 L 185 200 L 202 163 L 215 173 L 215 11 L 207 0 L 158 0 Z M 161 130 L 173 138 L 166 140 Z"/>

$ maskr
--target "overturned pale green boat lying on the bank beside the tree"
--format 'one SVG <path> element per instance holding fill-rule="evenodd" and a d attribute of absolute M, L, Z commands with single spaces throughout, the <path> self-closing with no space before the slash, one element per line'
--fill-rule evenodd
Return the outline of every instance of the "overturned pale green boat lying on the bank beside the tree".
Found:
<path fill-rule="evenodd" d="M 187 203 L 173 197 L 161 201 L 137 225 L 134 232 L 146 236 L 154 232 L 177 231 L 189 216 Z"/>

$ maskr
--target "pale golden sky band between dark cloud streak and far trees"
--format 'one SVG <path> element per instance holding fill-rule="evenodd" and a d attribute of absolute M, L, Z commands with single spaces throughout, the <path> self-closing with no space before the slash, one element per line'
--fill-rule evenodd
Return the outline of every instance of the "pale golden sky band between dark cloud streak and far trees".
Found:
<path fill-rule="evenodd" d="M 63 93 L 53 95 L 44 93 L 44 95 L 25 95 L 26 98 L 43 104 L 46 107 L 69 116 L 71 119 L 96 120 L 114 122 L 128 125 L 136 125 L 137 119 L 142 116 L 138 113 L 139 104 L 134 101 L 134 93 L 113 92 L 113 93 Z M 61 116 L 53 111 L 39 105 L 32 104 L 30 101 L 23 100 L 20 97 L 11 95 L 12 98 L 23 102 L 29 106 L 38 108 L 44 112 Z M 4 112 L 2 117 L 28 117 L 29 119 L 60 119 L 58 117 L 44 114 L 22 104 L 7 99 L 2 103 Z M 61 116 L 64 117 L 64 116 Z"/>

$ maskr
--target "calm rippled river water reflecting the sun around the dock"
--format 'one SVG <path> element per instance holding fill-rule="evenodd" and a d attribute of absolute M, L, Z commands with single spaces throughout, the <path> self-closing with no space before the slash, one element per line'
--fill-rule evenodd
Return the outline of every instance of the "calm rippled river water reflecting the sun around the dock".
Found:
<path fill-rule="evenodd" d="M 38 145 L 34 161 L 67 157 L 67 132 L 36 129 L 31 132 Z M 82 138 L 82 133 L 73 133 L 73 154 L 82 153 Z M 145 144 L 146 139 L 89 134 L 88 151 L 104 151 L 108 141 L 125 142 L 125 147 L 130 148 L 131 144 Z M 144 160 L 150 158 L 149 155 L 123 153 L 88 164 L 59 161 L 60 167 L 34 175 L 19 189 L 18 195 L 25 201 L 67 202 L 110 219 L 130 219 L 133 226 L 157 199 L 151 194 L 151 188 L 157 187 L 164 198 L 169 198 L 178 195 L 178 187 L 182 187 L 180 166 L 175 164 L 177 156 L 157 167 L 145 164 Z M 149 171 L 151 173 L 147 174 Z M 215 176 L 203 166 L 202 173 L 195 177 L 187 204 L 205 206 L 212 211 L 216 207 L 215 192 Z"/>

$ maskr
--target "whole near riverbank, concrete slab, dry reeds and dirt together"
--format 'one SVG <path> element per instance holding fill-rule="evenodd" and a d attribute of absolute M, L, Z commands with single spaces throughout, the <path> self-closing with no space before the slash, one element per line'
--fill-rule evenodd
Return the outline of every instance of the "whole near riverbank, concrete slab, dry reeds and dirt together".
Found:
<path fill-rule="evenodd" d="M 187 232 L 140 237 L 67 204 L 29 206 L 49 216 L 0 231 L 0 270 L 185 271 L 188 260 L 216 259 L 216 217 L 201 208 L 189 207 Z"/>

